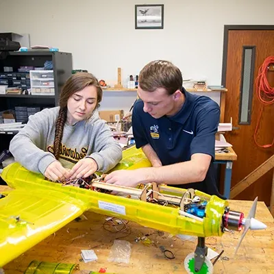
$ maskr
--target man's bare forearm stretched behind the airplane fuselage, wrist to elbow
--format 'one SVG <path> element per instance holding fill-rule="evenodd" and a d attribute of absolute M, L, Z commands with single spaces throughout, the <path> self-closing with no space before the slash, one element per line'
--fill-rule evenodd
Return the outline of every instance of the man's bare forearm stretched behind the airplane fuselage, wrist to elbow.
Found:
<path fill-rule="evenodd" d="M 208 169 L 193 161 L 142 169 L 143 183 L 188 184 L 202 182 Z"/>

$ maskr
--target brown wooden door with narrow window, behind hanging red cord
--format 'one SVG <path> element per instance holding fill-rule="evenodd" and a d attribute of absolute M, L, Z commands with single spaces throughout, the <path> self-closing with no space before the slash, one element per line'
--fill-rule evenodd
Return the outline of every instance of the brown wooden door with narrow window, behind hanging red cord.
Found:
<path fill-rule="evenodd" d="M 232 117 L 234 127 L 238 127 L 226 134 L 227 141 L 232 143 L 238 155 L 238 160 L 233 163 L 232 187 L 274 153 L 274 147 L 261 148 L 254 141 L 256 125 L 263 108 L 256 95 L 256 77 L 259 67 L 269 56 L 274 56 L 274 30 L 228 31 L 225 121 Z M 274 71 L 269 71 L 267 77 L 269 84 L 274 86 Z M 273 138 L 274 104 L 264 106 L 257 140 L 260 145 L 266 145 L 271 144 Z M 251 200 L 258 196 L 260 201 L 269 205 L 272 176 L 271 170 L 235 199 Z"/>

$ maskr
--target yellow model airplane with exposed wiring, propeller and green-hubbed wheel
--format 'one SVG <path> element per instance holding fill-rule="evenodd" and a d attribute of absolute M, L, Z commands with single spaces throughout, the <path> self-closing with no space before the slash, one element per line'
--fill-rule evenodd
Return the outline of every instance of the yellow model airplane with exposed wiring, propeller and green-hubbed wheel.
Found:
<path fill-rule="evenodd" d="M 131 147 L 123 151 L 123 160 L 115 169 L 144 166 L 150 166 L 150 162 L 142 151 Z M 14 190 L 2 193 L 0 199 L 0 267 L 86 210 L 171 234 L 198 236 L 195 253 L 185 260 L 188 273 L 213 273 L 212 263 L 206 258 L 206 237 L 222 236 L 231 229 L 245 227 L 243 238 L 248 229 L 266 227 L 253 218 L 257 200 L 245 219 L 241 212 L 228 208 L 228 201 L 193 189 L 155 183 L 142 188 L 127 188 L 105 184 L 103 177 L 93 179 L 90 184 L 84 180 L 73 185 L 56 184 L 27 171 L 18 163 L 5 167 L 1 177 Z M 119 193 L 111 195 L 111 191 Z"/>

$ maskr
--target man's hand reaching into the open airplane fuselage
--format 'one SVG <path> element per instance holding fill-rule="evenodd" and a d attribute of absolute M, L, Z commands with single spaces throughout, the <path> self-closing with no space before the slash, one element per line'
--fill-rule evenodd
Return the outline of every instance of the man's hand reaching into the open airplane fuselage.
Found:
<path fill-rule="evenodd" d="M 134 171 L 113 171 L 105 177 L 105 182 L 135 188 L 142 183 L 142 171 L 140 169 Z"/>

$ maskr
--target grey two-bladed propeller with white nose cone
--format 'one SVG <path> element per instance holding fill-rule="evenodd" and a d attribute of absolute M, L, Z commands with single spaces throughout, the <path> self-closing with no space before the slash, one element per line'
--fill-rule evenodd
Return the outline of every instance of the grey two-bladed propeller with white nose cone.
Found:
<path fill-rule="evenodd" d="M 244 232 L 242 232 L 242 236 L 240 237 L 234 256 L 236 256 L 236 253 L 240 247 L 240 244 L 243 238 L 245 238 L 245 235 L 247 234 L 248 229 L 251 229 L 251 230 L 266 229 L 266 225 L 264 223 L 254 218 L 256 214 L 257 203 L 258 203 L 258 197 L 256 197 L 256 199 L 253 201 L 247 218 L 242 219 L 242 225 L 245 226 L 245 229 L 244 229 Z"/>

